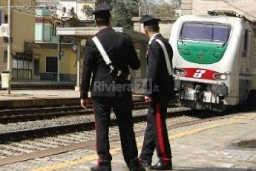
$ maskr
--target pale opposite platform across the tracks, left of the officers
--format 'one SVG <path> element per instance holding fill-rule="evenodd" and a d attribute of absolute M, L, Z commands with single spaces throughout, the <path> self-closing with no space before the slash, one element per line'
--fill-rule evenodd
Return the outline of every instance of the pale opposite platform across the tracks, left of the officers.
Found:
<path fill-rule="evenodd" d="M 141 96 L 133 95 L 137 100 Z M 75 90 L 0 90 L 0 109 L 80 105 L 80 92 Z"/>

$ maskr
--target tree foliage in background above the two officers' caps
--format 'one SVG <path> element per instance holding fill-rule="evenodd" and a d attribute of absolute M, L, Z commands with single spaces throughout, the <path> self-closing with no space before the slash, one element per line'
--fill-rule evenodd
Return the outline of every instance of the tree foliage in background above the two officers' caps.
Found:
<path fill-rule="evenodd" d="M 155 17 L 173 17 L 174 9 L 179 8 L 181 0 L 97 0 L 96 5 L 108 3 L 113 6 L 111 11 L 112 26 L 132 28 L 132 18 L 141 14 Z"/>

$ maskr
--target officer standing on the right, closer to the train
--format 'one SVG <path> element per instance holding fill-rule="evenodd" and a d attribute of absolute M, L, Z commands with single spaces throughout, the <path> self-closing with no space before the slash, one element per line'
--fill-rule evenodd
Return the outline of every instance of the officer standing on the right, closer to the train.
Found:
<path fill-rule="evenodd" d="M 173 85 L 167 70 L 167 64 L 163 49 L 157 40 L 160 40 L 168 53 L 168 60 L 172 64 L 173 50 L 166 39 L 159 33 L 159 20 L 151 16 L 144 16 L 144 31 L 149 41 L 147 51 L 147 85 L 148 91 L 145 101 L 149 103 L 147 128 L 144 137 L 143 148 L 140 154 L 140 162 L 144 167 L 155 170 L 171 170 L 172 154 L 168 140 L 166 127 L 167 106 Z M 159 161 L 151 166 L 154 149 L 157 149 Z"/>

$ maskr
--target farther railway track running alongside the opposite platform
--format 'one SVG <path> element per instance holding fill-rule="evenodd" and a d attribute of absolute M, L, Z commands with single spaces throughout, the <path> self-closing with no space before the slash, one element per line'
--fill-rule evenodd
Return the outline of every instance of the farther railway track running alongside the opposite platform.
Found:
<path fill-rule="evenodd" d="M 172 105 L 174 106 L 174 105 Z M 146 109 L 147 104 L 143 101 L 134 101 L 134 110 Z M 77 118 L 81 116 L 81 118 Z M 58 118 L 73 117 L 74 123 L 60 122 L 55 125 L 45 125 L 42 127 L 20 128 L 11 131 L 1 130 L 0 127 L 0 144 L 9 144 L 10 142 L 19 142 L 30 138 L 39 138 L 59 135 L 67 132 L 89 130 L 94 128 L 93 106 L 89 105 L 87 110 L 81 106 L 65 106 L 65 107 L 47 107 L 47 108 L 23 108 L 13 110 L 0 110 L 0 126 L 18 127 L 18 125 L 26 125 L 33 123 L 32 121 L 56 120 Z M 141 120 L 143 116 L 136 116 L 134 120 Z M 115 124 L 115 117 L 112 117 L 112 124 Z M 13 123 L 13 126 L 10 125 Z M 44 125 L 44 123 L 38 123 Z M 50 123 L 51 124 L 51 123 Z"/>

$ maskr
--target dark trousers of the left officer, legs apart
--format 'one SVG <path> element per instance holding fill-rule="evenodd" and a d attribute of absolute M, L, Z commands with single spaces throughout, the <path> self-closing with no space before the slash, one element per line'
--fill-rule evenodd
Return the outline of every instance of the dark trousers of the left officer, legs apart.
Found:
<path fill-rule="evenodd" d="M 138 148 L 133 130 L 132 98 L 93 97 L 96 129 L 96 150 L 98 164 L 110 162 L 109 126 L 110 113 L 113 108 L 119 127 L 122 152 L 127 166 L 130 168 L 132 159 L 138 157 Z M 130 168 L 131 169 L 131 168 Z"/>

